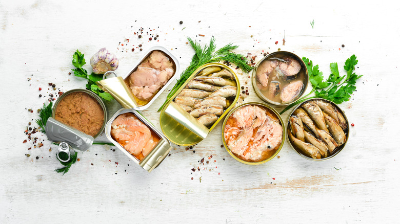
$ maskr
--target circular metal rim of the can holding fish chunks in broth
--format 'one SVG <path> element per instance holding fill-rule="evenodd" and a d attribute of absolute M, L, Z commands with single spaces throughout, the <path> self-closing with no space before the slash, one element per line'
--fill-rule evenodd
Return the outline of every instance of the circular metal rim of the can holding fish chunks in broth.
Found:
<path fill-rule="evenodd" d="M 266 98 L 266 97 L 261 93 L 261 91 L 259 91 L 259 89 L 258 89 L 258 87 L 257 87 L 257 84 L 256 84 L 256 80 L 255 80 L 255 75 L 256 75 L 255 73 L 257 72 L 258 66 L 259 66 L 267 57 L 270 57 L 271 55 L 273 56 L 273 54 L 276 54 L 276 53 L 287 53 L 287 54 L 290 54 L 290 55 L 294 56 L 295 58 L 297 58 L 297 59 L 300 61 L 300 63 L 302 64 L 302 67 L 305 69 L 305 72 L 306 72 L 306 75 L 305 75 L 306 81 L 303 82 L 303 83 L 305 84 L 303 93 L 302 93 L 301 95 L 298 95 L 298 96 L 296 97 L 296 99 L 294 99 L 293 101 L 291 101 L 291 102 L 289 102 L 289 103 L 285 103 L 285 104 L 277 103 L 277 102 L 274 102 L 274 101 L 269 100 L 268 98 Z M 252 71 L 252 73 L 251 73 L 251 83 L 252 83 L 252 85 L 253 85 L 253 89 L 254 89 L 254 92 L 256 93 L 256 95 L 257 95 L 260 99 L 262 99 L 263 101 L 265 101 L 265 102 L 267 102 L 267 103 L 269 103 L 269 104 L 276 105 L 276 106 L 287 106 L 287 105 L 290 105 L 290 104 L 293 103 L 293 102 L 296 102 L 296 100 L 300 99 L 300 98 L 306 93 L 306 90 L 307 90 L 307 87 L 308 87 L 308 83 L 309 83 L 309 82 L 310 82 L 310 81 L 309 81 L 309 76 L 308 76 L 308 70 L 307 70 L 306 63 L 304 63 L 304 61 L 303 61 L 302 58 L 300 58 L 300 57 L 297 56 L 296 54 L 294 54 L 294 53 L 292 53 L 292 52 L 288 52 L 288 51 L 275 51 L 275 52 L 272 52 L 272 53 L 269 54 L 269 55 L 266 55 L 265 57 L 263 57 L 261 60 L 259 60 L 259 61 L 257 62 L 257 64 L 254 66 L 254 69 L 253 69 L 253 71 Z"/>

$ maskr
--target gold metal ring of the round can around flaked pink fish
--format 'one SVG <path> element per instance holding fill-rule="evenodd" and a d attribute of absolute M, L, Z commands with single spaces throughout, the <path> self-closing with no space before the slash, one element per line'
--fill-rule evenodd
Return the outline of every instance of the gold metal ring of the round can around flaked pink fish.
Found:
<path fill-rule="evenodd" d="M 238 108 L 241 108 L 241 107 L 243 107 L 243 106 L 246 106 L 246 105 L 259 105 L 259 106 L 265 107 L 266 109 L 269 109 L 270 111 L 273 112 L 273 114 L 275 114 L 275 115 L 277 116 L 277 118 L 279 119 L 279 122 L 280 122 L 281 125 L 282 125 L 282 142 L 281 142 L 281 145 L 279 146 L 279 148 L 276 150 L 276 152 L 275 152 L 274 154 L 272 154 L 269 158 L 267 158 L 267 159 L 265 159 L 265 160 L 263 160 L 263 161 L 260 161 L 260 162 L 247 162 L 247 161 L 244 161 L 244 160 L 242 160 L 242 159 L 240 159 L 240 158 L 237 158 L 237 156 L 236 156 L 235 154 L 233 154 L 233 153 L 231 152 L 231 150 L 228 148 L 228 145 L 226 144 L 226 141 L 225 141 L 224 130 L 225 130 L 225 125 L 226 125 L 226 122 L 228 121 L 228 118 L 231 116 L 231 114 L 232 114 L 235 110 L 237 110 Z M 286 128 L 285 128 L 285 123 L 284 123 L 283 120 L 282 120 L 282 117 L 279 115 L 279 113 L 278 113 L 274 108 L 272 108 L 271 106 L 269 106 L 269 105 L 267 105 L 267 104 L 265 104 L 265 103 L 259 103 L 259 102 L 248 102 L 248 103 L 244 103 L 244 104 L 242 104 L 242 105 L 240 105 L 240 106 L 238 106 L 238 107 L 232 109 L 232 110 L 229 112 L 229 114 L 226 116 L 226 118 L 225 118 L 225 120 L 224 120 L 224 123 L 222 124 L 222 141 L 223 141 L 223 143 L 224 143 L 225 149 L 226 149 L 227 152 L 233 157 L 233 159 L 235 159 L 235 160 L 237 160 L 237 161 L 239 161 L 239 162 L 241 162 L 241 163 L 243 163 L 243 164 L 247 164 L 247 165 L 259 165 L 259 164 L 263 164 L 263 163 L 266 163 L 266 162 L 272 160 L 272 158 L 274 158 L 274 157 L 279 153 L 279 151 L 281 151 L 281 149 L 282 149 L 282 147 L 283 147 L 283 145 L 284 145 L 284 143 L 285 143 L 285 137 L 286 137 Z"/>

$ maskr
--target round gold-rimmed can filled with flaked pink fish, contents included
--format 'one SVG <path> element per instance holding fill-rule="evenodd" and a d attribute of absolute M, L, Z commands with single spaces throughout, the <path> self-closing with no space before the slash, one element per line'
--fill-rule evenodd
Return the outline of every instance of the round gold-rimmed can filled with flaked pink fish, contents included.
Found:
<path fill-rule="evenodd" d="M 285 141 L 285 125 L 277 111 L 265 103 L 244 103 L 229 112 L 222 125 L 228 153 L 247 165 L 274 158 Z"/>

